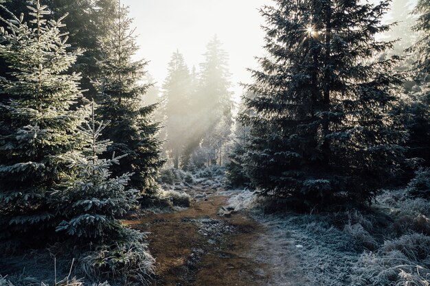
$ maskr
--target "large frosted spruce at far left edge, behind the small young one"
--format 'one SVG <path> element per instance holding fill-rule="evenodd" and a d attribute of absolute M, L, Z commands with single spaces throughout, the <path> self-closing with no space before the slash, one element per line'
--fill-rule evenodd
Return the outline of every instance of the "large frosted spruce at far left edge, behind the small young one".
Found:
<path fill-rule="evenodd" d="M 12 71 L 11 80 L 0 78 L 0 237 L 14 239 L 54 227 L 49 192 L 64 176 L 64 155 L 80 144 L 73 132 L 86 115 L 76 107 L 80 75 L 66 73 L 79 52 L 66 51 L 64 17 L 47 21 L 38 1 L 29 9 L 30 23 L 9 13 L 0 28 L 0 56 Z"/>

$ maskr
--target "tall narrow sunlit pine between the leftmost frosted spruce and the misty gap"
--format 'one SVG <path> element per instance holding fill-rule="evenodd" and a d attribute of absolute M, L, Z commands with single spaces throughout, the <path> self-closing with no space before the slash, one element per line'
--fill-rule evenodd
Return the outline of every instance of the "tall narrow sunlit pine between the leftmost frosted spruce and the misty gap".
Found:
<path fill-rule="evenodd" d="M 112 167 L 113 175 L 120 176 L 124 171 L 133 173 L 130 186 L 151 192 L 164 163 L 160 155 L 161 143 L 156 137 L 159 123 L 151 117 L 157 104 L 142 104 L 150 85 L 139 83 L 146 73 L 146 62 L 132 60 L 138 47 L 134 30 L 130 29 L 132 20 L 127 18 L 127 14 L 128 8 L 118 3 L 115 23 L 109 29 L 109 36 L 100 43 L 103 56 L 98 63 L 101 75 L 96 83 L 101 93 L 98 111 L 102 120 L 111 120 L 104 139 L 114 143 L 108 147 L 107 154 L 128 154 L 123 160 L 124 167 Z"/>

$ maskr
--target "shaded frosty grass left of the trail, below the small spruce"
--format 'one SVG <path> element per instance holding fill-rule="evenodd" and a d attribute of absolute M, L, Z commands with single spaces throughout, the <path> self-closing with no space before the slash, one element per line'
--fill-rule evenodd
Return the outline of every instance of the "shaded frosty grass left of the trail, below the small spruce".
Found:
<path fill-rule="evenodd" d="M 122 237 L 109 245 L 90 243 L 83 248 L 57 243 L 44 250 L 8 254 L 7 259 L 0 257 L 0 275 L 8 274 L 0 286 L 98 285 L 104 281 L 111 286 L 148 285 L 155 259 L 145 239 L 146 233 L 125 229 Z"/>

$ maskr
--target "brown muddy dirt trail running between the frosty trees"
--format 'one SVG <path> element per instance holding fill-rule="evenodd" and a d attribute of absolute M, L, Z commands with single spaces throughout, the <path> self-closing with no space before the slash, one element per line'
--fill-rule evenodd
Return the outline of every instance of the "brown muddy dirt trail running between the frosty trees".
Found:
<path fill-rule="evenodd" d="M 202 190 L 195 189 L 193 192 Z M 150 252 L 157 259 L 151 285 L 253 286 L 267 283 L 268 266 L 249 256 L 264 228 L 245 213 L 217 215 L 227 198 L 207 192 L 190 208 L 151 214 L 125 223 L 149 232 Z"/>

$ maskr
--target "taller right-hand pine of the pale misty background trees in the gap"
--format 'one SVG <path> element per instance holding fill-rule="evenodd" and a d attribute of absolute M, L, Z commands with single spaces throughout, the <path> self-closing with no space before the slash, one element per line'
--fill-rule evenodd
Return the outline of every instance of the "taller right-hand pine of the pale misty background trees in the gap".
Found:
<path fill-rule="evenodd" d="M 207 44 L 205 62 L 200 64 L 195 114 L 201 128 L 201 147 L 206 153 L 207 164 L 223 163 L 223 146 L 231 134 L 233 102 L 231 99 L 230 73 L 227 53 L 218 37 Z"/>

